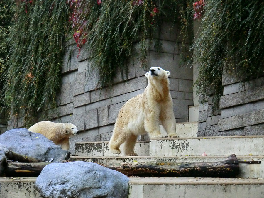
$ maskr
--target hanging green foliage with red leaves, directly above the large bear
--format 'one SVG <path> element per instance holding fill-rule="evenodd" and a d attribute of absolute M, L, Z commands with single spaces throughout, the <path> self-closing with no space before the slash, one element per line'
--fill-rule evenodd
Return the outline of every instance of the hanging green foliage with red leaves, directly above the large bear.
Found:
<path fill-rule="evenodd" d="M 99 71 L 101 86 L 111 84 L 117 68 L 126 71 L 125 62 L 131 56 L 135 42 L 140 43 L 139 58 L 141 65 L 146 66 L 146 38 L 158 38 L 162 21 L 181 27 L 184 44 L 192 35 L 192 4 L 185 0 L 74 2 L 72 7 L 82 10 L 78 13 L 73 9 L 70 18 L 75 41 L 79 47 L 85 43 L 85 51 L 92 58 L 92 68 Z M 183 49 L 183 53 L 188 50 L 185 45 Z"/>

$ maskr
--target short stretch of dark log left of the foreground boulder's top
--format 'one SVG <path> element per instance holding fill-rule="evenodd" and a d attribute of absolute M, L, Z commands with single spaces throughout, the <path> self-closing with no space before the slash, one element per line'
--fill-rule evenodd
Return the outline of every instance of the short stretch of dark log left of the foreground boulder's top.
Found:
<path fill-rule="evenodd" d="M 13 162 L 8 161 L 5 170 L 6 177 L 38 176 L 50 162 Z"/>

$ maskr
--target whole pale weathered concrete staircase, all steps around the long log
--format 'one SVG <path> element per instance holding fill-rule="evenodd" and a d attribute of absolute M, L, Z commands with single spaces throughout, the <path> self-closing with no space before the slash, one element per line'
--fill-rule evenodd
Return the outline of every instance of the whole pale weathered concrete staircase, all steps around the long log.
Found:
<path fill-rule="evenodd" d="M 138 141 L 135 150 L 139 156 L 136 157 L 112 154 L 109 142 L 79 142 L 75 144 L 75 156 L 70 160 L 94 163 L 215 162 L 234 153 L 239 161 L 262 163 L 240 164 L 238 178 L 129 177 L 129 198 L 264 197 L 264 136 L 196 137 L 197 127 L 197 123 L 177 123 L 181 138 Z M 204 152 L 206 156 L 202 156 Z M 40 197 L 34 182 L 32 177 L 0 178 L 0 198 Z"/>

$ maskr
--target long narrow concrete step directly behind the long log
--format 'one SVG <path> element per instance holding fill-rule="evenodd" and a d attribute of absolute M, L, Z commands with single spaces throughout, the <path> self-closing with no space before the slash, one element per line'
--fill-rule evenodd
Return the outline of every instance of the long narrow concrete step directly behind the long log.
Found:
<path fill-rule="evenodd" d="M 223 161 L 228 156 L 141 156 L 141 157 L 87 157 L 71 156 L 71 161 L 85 161 L 94 163 L 124 163 L 124 162 L 217 162 Z M 239 178 L 264 178 L 264 156 L 237 156 L 238 161 L 262 161 L 261 164 L 240 164 Z"/>

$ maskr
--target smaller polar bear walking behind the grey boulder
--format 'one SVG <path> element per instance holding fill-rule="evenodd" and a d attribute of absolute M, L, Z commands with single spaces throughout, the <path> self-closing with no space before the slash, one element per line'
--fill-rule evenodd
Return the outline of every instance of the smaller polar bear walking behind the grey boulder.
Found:
<path fill-rule="evenodd" d="M 78 134 L 75 125 L 70 123 L 55 123 L 50 121 L 41 121 L 31 126 L 28 131 L 41 133 L 56 145 L 60 145 L 63 150 L 69 150 L 70 136 Z"/>

